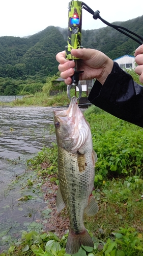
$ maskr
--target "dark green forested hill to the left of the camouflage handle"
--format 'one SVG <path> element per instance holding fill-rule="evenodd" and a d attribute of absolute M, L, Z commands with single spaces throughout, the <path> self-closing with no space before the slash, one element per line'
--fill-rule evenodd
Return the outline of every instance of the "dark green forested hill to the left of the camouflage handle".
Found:
<path fill-rule="evenodd" d="M 63 35 L 53 26 L 29 38 L 0 37 L 0 76 L 17 78 L 56 74 L 58 63 L 55 55 L 65 45 Z"/>

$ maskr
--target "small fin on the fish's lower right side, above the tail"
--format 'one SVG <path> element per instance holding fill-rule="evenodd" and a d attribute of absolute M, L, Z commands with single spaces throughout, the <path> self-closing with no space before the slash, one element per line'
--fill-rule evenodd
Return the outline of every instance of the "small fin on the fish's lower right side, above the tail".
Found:
<path fill-rule="evenodd" d="M 97 202 L 95 201 L 95 198 L 94 198 L 93 195 L 91 195 L 89 197 L 89 203 L 88 203 L 88 206 L 85 208 L 84 212 L 88 216 L 93 216 L 93 215 L 97 214 L 97 212 L 98 212 L 98 205 L 97 205 Z"/>

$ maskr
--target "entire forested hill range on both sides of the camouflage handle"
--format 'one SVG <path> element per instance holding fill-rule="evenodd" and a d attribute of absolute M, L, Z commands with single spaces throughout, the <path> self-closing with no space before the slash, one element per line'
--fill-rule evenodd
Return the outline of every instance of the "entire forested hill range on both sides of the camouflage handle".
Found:
<path fill-rule="evenodd" d="M 96 20 L 93 19 L 93 23 Z M 116 22 L 143 37 L 143 16 Z M 27 38 L 0 37 L 0 76 L 22 79 L 28 75 L 48 76 L 58 72 L 55 55 L 67 45 L 67 29 L 49 26 Z M 135 41 L 110 27 L 82 31 L 82 46 L 94 48 L 114 59 L 133 54 Z"/>

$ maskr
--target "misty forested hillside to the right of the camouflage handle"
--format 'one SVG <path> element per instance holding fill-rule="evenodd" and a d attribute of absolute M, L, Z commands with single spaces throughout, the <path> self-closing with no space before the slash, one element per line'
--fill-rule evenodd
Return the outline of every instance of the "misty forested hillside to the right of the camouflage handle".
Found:
<path fill-rule="evenodd" d="M 96 27 L 96 20 L 93 19 L 93 23 L 95 23 Z M 143 37 L 143 15 L 126 22 L 114 22 L 112 24 L 125 27 Z M 63 34 L 64 39 L 66 39 L 67 30 L 61 28 L 59 30 Z M 125 54 L 133 55 L 134 50 L 139 44 L 119 31 L 107 26 L 95 30 L 82 30 L 82 46 L 84 48 L 100 50 L 110 58 L 115 59 Z"/>

